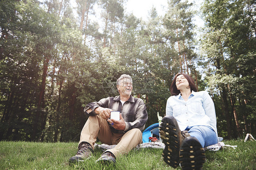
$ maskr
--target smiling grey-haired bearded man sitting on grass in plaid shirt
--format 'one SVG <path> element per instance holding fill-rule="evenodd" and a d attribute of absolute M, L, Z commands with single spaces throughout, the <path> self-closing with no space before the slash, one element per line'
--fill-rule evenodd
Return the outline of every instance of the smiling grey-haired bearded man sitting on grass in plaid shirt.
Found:
<path fill-rule="evenodd" d="M 118 156 L 142 143 L 142 130 L 148 120 L 146 106 L 142 99 L 131 96 L 133 81 L 129 75 L 118 78 L 117 89 L 119 96 L 103 98 L 85 107 L 89 118 L 81 132 L 77 155 L 69 159 L 70 163 L 86 160 L 93 152 L 97 137 L 104 144 L 117 145 L 97 160 L 106 164 L 116 163 Z M 120 121 L 110 119 L 112 111 L 120 112 Z"/>

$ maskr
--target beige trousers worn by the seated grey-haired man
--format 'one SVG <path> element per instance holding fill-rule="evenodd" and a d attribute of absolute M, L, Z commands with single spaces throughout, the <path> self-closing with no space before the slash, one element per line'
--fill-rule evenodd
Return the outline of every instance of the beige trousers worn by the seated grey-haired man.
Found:
<path fill-rule="evenodd" d="M 138 144 L 142 143 L 142 133 L 139 129 L 134 128 L 126 133 L 116 134 L 110 130 L 107 120 L 99 115 L 90 116 L 81 131 L 79 144 L 85 141 L 94 149 L 97 137 L 104 144 L 117 145 L 113 149 L 107 150 L 112 152 L 116 157 L 127 154 Z"/>

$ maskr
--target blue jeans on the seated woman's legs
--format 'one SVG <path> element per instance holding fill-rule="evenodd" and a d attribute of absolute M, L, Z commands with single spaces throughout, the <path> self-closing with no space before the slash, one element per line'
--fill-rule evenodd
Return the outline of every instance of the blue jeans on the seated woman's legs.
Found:
<path fill-rule="evenodd" d="M 203 148 L 218 143 L 215 131 L 208 126 L 193 126 L 185 130 L 189 132 L 190 136 L 195 137 Z"/>

